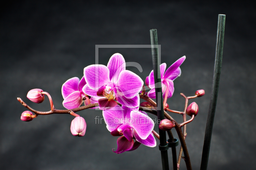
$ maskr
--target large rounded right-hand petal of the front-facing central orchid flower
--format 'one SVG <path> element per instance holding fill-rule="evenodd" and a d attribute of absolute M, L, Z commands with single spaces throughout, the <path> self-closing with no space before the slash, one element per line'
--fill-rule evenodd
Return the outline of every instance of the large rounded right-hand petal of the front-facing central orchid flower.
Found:
<path fill-rule="evenodd" d="M 134 98 L 141 90 L 144 82 L 135 73 L 129 70 L 123 70 L 119 74 L 116 87 L 121 89 L 126 98 Z"/>

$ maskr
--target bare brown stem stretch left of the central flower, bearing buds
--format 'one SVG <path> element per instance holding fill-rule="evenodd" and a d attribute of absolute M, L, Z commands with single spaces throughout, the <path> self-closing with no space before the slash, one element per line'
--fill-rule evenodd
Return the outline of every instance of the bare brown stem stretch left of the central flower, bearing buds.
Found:
<path fill-rule="evenodd" d="M 32 109 L 31 107 L 29 107 L 24 101 L 22 101 L 20 98 L 17 98 L 18 101 L 26 108 L 28 108 L 28 110 L 30 110 L 31 112 L 34 112 L 36 115 L 51 115 L 51 114 L 70 114 L 70 111 L 72 112 L 78 112 L 84 109 L 88 109 L 88 108 L 92 108 L 92 107 L 96 107 L 98 105 L 98 103 L 92 103 L 86 106 L 82 106 L 82 107 L 77 107 L 74 109 L 68 109 L 68 110 L 57 110 L 55 108 L 53 108 L 53 110 L 48 111 L 48 112 L 40 112 L 37 110 Z"/>

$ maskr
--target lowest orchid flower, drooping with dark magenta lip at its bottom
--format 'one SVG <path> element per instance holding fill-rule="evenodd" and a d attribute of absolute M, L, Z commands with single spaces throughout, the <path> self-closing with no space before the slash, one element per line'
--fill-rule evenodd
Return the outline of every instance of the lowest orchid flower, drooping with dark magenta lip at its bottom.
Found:
<path fill-rule="evenodd" d="M 111 110 L 103 110 L 103 117 L 111 135 L 122 136 L 117 139 L 117 150 L 113 152 L 133 151 L 140 144 L 156 146 L 156 139 L 152 134 L 154 123 L 145 112 L 137 111 L 137 108 L 117 105 Z M 133 138 L 136 139 L 135 142 Z"/>

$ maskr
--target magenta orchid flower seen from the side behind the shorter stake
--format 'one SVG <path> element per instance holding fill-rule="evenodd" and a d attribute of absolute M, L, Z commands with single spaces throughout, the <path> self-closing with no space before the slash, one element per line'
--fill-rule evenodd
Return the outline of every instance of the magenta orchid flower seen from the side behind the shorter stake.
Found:
<path fill-rule="evenodd" d="M 167 98 L 172 97 L 172 94 L 174 92 L 173 80 L 180 76 L 181 74 L 180 65 L 184 62 L 185 59 L 186 59 L 186 56 L 181 57 L 175 63 L 173 63 L 166 71 L 165 71 L 166 63 L 162 63 L 160 65 L 163 98 L 165 98 L 166 93 L 168 93 Z M 148 97 L 155 99 L 156 90 L 155 90 L 153 70 L 151 71 L 149 76 L 146 78 L 146 85 L 149 86 L 149 88 L 151 88 L 151 90 L 148 92 Z"/>

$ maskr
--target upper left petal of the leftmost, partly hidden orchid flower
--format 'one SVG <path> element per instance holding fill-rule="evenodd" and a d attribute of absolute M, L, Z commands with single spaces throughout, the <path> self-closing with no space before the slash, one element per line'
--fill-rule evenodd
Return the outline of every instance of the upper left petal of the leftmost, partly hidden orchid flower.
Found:
<path fill-rule="evenodd" d="M 65 99 L 66 97 L 68 97 L 69 94 L 77 91 L 77 87 L 79 84 L 79 78 L 74 77 L 74 78 L 70 78 L 68 79 L 61 87 L 61 93 L 63 96 L 63 99 Z"/>

